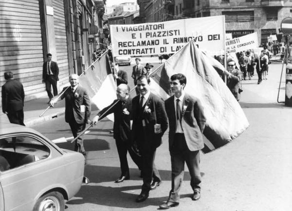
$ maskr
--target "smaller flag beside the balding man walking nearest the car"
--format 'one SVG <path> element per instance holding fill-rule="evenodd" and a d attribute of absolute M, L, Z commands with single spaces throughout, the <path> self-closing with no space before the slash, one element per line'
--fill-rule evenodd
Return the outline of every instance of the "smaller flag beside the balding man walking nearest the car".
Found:
<path fill-rule="evenodd" d="M 79 79 L 79 83 L 84 87 L 91 97 L 91 101 L 98 109 L 103 109 L 116 99 L 116 82 L 113 78 L 110 60 L 107 54 L 93 63 L 92 70 L 88 69 L 86 74 Z M 113 114 L 108 115 L 113 121 Z"/>

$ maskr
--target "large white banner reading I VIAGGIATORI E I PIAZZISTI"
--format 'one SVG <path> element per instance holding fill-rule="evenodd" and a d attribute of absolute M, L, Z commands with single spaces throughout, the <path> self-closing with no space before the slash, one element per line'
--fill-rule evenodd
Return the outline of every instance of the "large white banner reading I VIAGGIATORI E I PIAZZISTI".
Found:
<path fill-rule="evenodd" d="M 110 37 L 114 56 L 175 53 L 190 40 L 200 50 L 216 55 L 225 48 L 225 16 L 110 25 Z"/>

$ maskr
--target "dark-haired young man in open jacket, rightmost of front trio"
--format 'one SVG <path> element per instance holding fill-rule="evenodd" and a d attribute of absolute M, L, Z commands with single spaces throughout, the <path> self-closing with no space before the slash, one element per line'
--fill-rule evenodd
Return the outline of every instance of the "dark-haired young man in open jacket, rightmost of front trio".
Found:
<path fill-rule="evenodd" d="M 201 197 L 200 154 L 204 147 L 202 132 L 206 118 L 198 98 L 184 92 L 186 78 L 175 74 L 170 78 L 170 88 L 174 96 L 165 100 L 165 110 L 169 121 L 169 151 L 171 157 L 171 190 L 161 209 L 179 205 L 179 191 L 183 183 L 184 162 L 191 176 L 193 200 Z"/>

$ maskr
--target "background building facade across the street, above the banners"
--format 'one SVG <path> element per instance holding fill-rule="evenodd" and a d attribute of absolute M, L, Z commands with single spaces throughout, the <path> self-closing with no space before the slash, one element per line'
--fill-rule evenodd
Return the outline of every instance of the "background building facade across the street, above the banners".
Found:
<path fill-rule="evenodd" d="M 149 20 L 146 0 L 138 0 L 140 16 Z M 292 0 L 153 0 L 153 22 L 191 17 L 225 16 L 226 32 L 233 37 L 257 32 L 261 43 L 277 34 L 282 19 L 292 15 Z M 164 7 L 164 9 L 162 8 Z M 142 11 L 141 11 L 142 10 Z M 141 20 L 143 20 L 141 18 Z"/>

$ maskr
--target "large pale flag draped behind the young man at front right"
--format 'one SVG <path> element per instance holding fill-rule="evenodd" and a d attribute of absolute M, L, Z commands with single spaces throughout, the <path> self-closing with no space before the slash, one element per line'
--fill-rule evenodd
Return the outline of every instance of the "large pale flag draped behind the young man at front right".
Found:
<path fill-rule="evenodd" d="M 201 100 L 207 119 L 203 132 L 205 153 L 229 143 L 249 126 L 243 110 L 218 74 L 223 71 L 222 65 L 190 41 L 151 76 L 151 91 L 164 99 L 169 97 L 170 76 L 177 73 L 186 76 L 185 91 Z"/>

